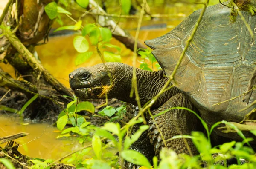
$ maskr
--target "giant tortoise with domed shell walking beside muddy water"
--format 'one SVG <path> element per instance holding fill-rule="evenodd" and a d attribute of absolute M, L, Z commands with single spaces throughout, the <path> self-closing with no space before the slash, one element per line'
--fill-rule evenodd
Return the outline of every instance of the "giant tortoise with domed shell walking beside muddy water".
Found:
<path fill-rule="evenodd" d="M 142 105 L 157 95 L 168 80 L 167 77 L 172 74 L 200 13 L 201 10 L 195 11 L 171 32 L 145 42 L 154 49 L 152 53 L 163 70 L 150 72 L 136 69 Z M 256 35 L 256 17 L 251 17 L 246 12 L 242 14 Z M 235 23 L 229 21 L 229 16 L 230 9 L 225 6 L 218 4 L 207 7 L 195 37 L 177 69 L 175 87 L 157 99 L 151 107 L 153 115 L 170 107 L 183 106 L 200 113 L 210 127 L 221 120 L 240 122 L 244 115 L 256 107 L 254 105 L 239 112 L 247 106 L 242 97 L 213 106 L 246 91 L 256 62 L 255 39 L 250 36 L 240 16 Z M 130 97 L 132 72 L 133 67 L 122 63 L 79 68 L 70 73 L 70 86 L 82 100 L 105 98 L 107 94 L 108 98 L 117 98 L 137 105 L 135 97 Z M 249 104 L 255 99 L 254 91 Z M 156 154 L 163 146 L 177 153 L 198 153 L 189 139 L 169 140 L 164 144 L 155 125 L 159 126 L 165 140 L 174 135 L 190 134 L 192 130 L 202 131 L 201 123 L 195 115 L 186 110 L 175 109 L 156 117 L 155 120 L 154 122 L 148 117 L 148 138 L 142 140 L 149 139 Z M 219 130 L 215 130 L 212 135 L 239 139 L 235 134 L 224 134 Z M 137 146 L 140 146 L 140 143 Z"/>

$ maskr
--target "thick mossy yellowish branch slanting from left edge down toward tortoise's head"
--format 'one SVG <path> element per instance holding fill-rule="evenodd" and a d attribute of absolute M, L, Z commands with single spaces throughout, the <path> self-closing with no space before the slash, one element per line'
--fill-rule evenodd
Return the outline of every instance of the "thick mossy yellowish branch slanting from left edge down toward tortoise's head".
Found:
<path fill-rule="evenodd" d="M 20 40 L 13 34 L 9 29 L 6 28 L 4 24 L 0 26 L 0 28 L 3 30 L 3 34 L 5 37 L 9 40 L 9 42 L 14 46 L 14 48 L 17 50 L 17 52 L 22 55 L 23 59 L 31 66 L 32 69 L 38 72 L 42 72 L 44 79 L 53 86 L 58 92 L 60 92 L 62 95 L 68 95 L 72 97 L 72 93 L 61 83 L 58 82 L 58 80 L 55 79 L 45 68 L 44 66 L 39 63 L 39 61 L 33 56 L 31 52 L 29 52 L 28 49 L 23 45 L 23 43 L 20 42 Z"/>

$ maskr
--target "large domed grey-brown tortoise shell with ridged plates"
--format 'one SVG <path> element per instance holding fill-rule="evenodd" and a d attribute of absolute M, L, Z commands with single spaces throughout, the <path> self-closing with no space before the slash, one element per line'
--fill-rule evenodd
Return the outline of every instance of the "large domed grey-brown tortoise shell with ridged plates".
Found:
<path fill-rule="evenodd" d="M 237 16 L 230 22 L 230 8 L 221 4 L 207 7 L 198 30 L 175 74 L 175 86 L 198 107 L 210 125 L 217 121 L 239 122 L 256 107 L 238 112 L 247 106 L 242 97 L 213 106 L 242 95 L 256 63 L 256 16 L 241 11 L 254 33 Z M 186 46 L 201 10 L 193 12 L 171 32 L 145 43 L 154 49 L 152 54 L 170 76 Z M 249 104 L 256 99 L 254 91 Z"/>

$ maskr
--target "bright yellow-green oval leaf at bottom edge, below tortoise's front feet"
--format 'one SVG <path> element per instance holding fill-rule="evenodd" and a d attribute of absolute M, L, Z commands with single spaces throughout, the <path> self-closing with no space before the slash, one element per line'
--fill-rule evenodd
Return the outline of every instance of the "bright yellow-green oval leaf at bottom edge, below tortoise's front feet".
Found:
<path fill-rule="evenodd" d="M 143 154 L 136 152 L 135 150 L 123 150 L 121 152 L 121 156 L 130 163 L 146 166 L 149 169 L 151 168 L 151 164 L 148 159 Z"/>

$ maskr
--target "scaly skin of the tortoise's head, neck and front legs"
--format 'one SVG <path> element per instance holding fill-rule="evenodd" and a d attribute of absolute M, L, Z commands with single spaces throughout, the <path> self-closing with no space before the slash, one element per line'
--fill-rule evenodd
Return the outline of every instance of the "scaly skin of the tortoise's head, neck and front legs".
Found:
<path fill-rule="evenodd" d="M 71 72 L 70 87 L 81 100 L 103 99 L 107 94 L 108 98 L 116 98 L 137 106 L 135 97 L 130 97 L 132 74 L 133 67 L 123 63 L 105 63 L 105 66 L 98 64 L 92 67 L 79 68 Z M 136 76 L 140 103 L 142 105 L 157 95 L 168 80 L 168 78 L 164 76 L 163 70 L 150 72 L 136 69 Z M 170 86 L 171 85 L 172 84 L 170 84 Z M 132 117 L 137 115 L 138 110 L 133 105 L 129 104 L 127 107 L 128 120 L 131 120 Z M 197 111 L 189 100 L 183 97 L 176 87 L 173 87 L 164 92 L 163 95 L 157 99 L 151 107 L 152 114 L 156 115 L 173 106 L 183 106 Z M 148 115 L 147 120 L 150 126 L 149 130 L 143 133 L 131 146 L 131 149 L 141 152 L 151 160 L 153 155 L 159 155 L 160 149 L 164 147 L 164 144 L 154 121 Z M 201 126 L 198 125 L 201 123 L 198 123 L 198 119 L 195 115 L 181 109 L 168 111 L 156 117 L 155 120 L 165 140 L 174 135 L 190 135 L 192 130 L 202 129 Z M 141 124 L 135 125 L 132 133 L 136 132 L 140 125 Z M 177 129 L 177 127 L 179 129 Z M 189 154 L 188 148 L 186 147 L 186 145 L 188 145 L 192 154 L 198 154 L 192 141 L 187 139 L 187 143 L 188 144 L 185 144 L 182 139 L 170 140 L 167 142 L 167 147 L 177 153 Z M 126 163 L 126 166 L 127 168 L 133 168 L 131 163 Z M 135 167 L 138 168 L 139 166 Z"/>

